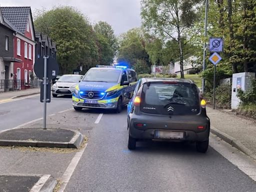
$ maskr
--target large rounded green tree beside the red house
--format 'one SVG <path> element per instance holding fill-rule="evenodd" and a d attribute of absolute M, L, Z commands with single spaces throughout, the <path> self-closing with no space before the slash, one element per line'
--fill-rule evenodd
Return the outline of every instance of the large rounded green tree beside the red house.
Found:
<path fill-rule="evenodd" d="M 96 36 L 88 19 L 70 6 L 58 6 L 39 11 L 35 30 L 51 37 L 57 45 L 60 73 L 70 73 L 82 65 L 86 70 L 98 59 Z"/>

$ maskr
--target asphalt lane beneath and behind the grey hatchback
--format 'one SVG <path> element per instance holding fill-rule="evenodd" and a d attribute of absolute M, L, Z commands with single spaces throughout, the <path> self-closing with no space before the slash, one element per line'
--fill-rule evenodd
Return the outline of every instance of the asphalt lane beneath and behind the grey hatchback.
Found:
<path fill-rule="evenodd" d="M 209 147 L 140 142 L 127 150 L 126 112 L 104 113 L 65 191 L 256 191 L 255 182 Z"/>

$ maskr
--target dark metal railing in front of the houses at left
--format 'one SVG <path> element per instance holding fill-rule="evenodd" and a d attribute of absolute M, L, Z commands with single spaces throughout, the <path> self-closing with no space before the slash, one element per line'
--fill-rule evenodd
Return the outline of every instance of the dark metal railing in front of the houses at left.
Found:
<path fill-rule="evenodd" d="M 26 88 L 36 88 L 36 87 L 40 87 L 39 79 L 33 79 L 33 80 L 30 79 L 28 80 L 28 82 L 25 82 L 25 80 L 0 79 L 0 92 L 21 90 Z"/>

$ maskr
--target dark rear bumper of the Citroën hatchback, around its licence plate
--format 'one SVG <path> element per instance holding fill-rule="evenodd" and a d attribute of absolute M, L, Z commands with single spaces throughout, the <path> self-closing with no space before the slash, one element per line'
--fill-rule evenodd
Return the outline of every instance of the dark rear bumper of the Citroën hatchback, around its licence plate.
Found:
<path fill-rule="evenodd" d="M 136 139 L 166 139 L 166 140 L 188 140 L 204 141 L 209 138 L 210 122 L 208 117 L 200 115 L 173 117 L 168 119 L 164 116 L 148 115 L 147 120 L 139 118 L 145 115 L 128 116 L 129 135 Z M 191 121 L 191 118 L 193 119 Z M 137 127 L 136 123 L 143 123 L 143 127 Z M 197 127 L 203 125 L 203 129 Z M 183 138 L 158 138 L 155 131 L 177 131 L 183 132 Z"/>

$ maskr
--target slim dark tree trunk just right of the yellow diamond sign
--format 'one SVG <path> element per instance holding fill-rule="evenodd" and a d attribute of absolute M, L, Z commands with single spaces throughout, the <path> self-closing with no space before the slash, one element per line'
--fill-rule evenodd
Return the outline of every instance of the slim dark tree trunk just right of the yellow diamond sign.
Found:
<path fill-rule="evenodd" d="M 229 43 L 229 50 L 233 47 L 233 40 L 234 40 L 234 32 L 233 32 L 233 23 L 232 23 L 232 0 L 227 0 L 227 19 L 228 19 L 228 28 L 229 28 L 229 37 L 230 37 L 230 43 Z M 228 53 L 228 56 L 231 56 L 230 52 Z M 237 64 L 232 63 L 232 71 L 233 73 L 237 73 Z"/>

